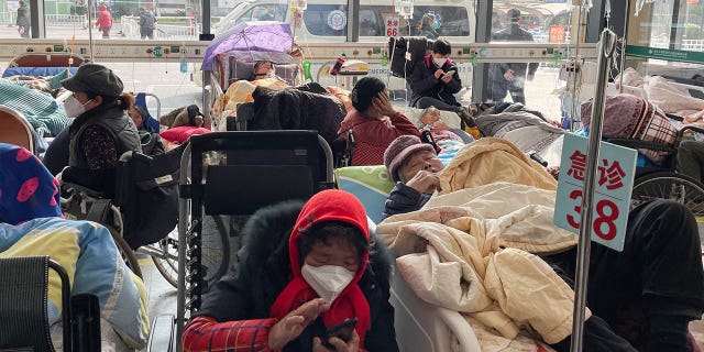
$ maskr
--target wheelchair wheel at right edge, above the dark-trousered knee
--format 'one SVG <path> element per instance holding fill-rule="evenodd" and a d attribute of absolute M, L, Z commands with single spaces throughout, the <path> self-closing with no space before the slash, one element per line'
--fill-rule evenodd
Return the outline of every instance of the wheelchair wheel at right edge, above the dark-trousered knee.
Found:
<path fill-rule="evenodd" d="M 694 217 L 704 216 L 704 187 L 685 175 L 652 173 L 634 180 L 631 208 L 653 199 L 674 200 L 690 209 Z"/>

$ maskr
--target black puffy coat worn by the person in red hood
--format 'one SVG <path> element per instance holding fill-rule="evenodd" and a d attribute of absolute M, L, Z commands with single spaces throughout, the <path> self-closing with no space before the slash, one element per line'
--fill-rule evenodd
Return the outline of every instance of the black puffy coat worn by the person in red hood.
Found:
<path fill-rule="evenodd" d="M 217 321 L 265 319 L 276 297 L 290 277 L 288 237 L 302 201 L 287 201 L 260 209 L 242 230 L 238 273 L 229 273 L 216 284 L 204 299 L 199 316 Z M 382 242 L 372 235 L 370 263 L 359 282 L 370 305 L 372 328 L 366 333 L 364 348 L 370 352 L 395 352 L 394 308 L 388 302 L 392 255 Z M 284 351 L 311 351 L 312 338 L 323 337 L 326 327 L 318 318 Z"/>

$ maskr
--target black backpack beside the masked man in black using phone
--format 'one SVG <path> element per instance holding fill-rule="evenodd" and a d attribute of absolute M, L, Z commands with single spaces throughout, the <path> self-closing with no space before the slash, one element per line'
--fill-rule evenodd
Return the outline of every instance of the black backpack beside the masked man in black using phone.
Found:
<path fill-rule="evenodd" d="M 425 36 L 391 37 L 388 40 L 388 54 L 391 55 L 392 74 L 396 77 L 410 76 L 414 64 L 432 50 L 435 41 Z M 407 53 L 410 53 L 407 57 Z"/>

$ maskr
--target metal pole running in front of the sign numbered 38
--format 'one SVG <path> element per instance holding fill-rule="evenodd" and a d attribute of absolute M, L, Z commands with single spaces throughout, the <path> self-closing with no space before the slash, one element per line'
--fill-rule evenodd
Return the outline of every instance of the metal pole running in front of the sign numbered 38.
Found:
<path fill-rule="evenodd" d="M 580 241 L 576 253 L 576 273 L 574 287 L 574 310 L 572 312 L 572 352 L 582 351 L 584 330 L 584 307 L 586 305 L 586 285 L 590 274 L 590 249 L 592 239 L 592 202 L 594 198 L 594 179 L 598 164 L 600 142 L 602 141 L 602 124 L 604 120 L 604 96 L 608 78 L 609 62 L 616 47 L 616 34 L 609 30 L 602 31 L 600 55 L 597 61 L 596 91 L 592 103 L 592 122 L 590 125 L 590 147 L 584 173 L 584 194 L 582 197 L 582 212 L 580 215 Z"/>

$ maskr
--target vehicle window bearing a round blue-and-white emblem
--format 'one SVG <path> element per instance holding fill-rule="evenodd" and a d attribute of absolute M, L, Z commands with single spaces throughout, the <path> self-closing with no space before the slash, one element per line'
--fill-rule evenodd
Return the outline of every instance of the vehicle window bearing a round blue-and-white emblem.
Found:
<path fill-rule="evenodd" d="M 304 23 L 312 35 L 348 35 L 348 7 L 343 4 L 308 4 Z"/>

